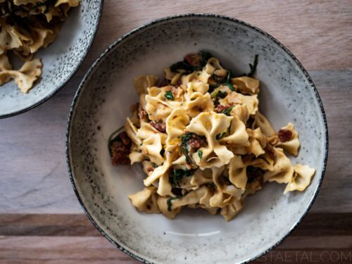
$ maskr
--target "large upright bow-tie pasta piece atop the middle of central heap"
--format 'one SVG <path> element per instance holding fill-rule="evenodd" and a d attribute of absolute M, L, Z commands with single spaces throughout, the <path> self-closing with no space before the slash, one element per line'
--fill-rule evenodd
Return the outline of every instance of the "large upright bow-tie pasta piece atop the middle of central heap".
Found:
<path fill-rule="evenodd" d="M 226 146 L 220 145 L 217 136 L 227 131 L 232 118 L 214 112 L 200 113 L 186 127 L 187 131 L 206 137 L 208 146 L 200 148 L 202 151 L 201 157 L 198 151 L 192 155 L 196 165 L 199 165 L 201 170 L 213 167 L 219 168 L 230 163 L 234 154 Z"/>

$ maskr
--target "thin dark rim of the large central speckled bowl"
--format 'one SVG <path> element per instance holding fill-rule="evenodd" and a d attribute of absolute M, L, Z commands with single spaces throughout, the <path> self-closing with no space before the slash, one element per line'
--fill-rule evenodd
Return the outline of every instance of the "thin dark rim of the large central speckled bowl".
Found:
<path fill-rule="evenodd" d="M 279 241 L 277 241 L 275 244 L 270 246 L 268 249 L 265 249 L 265 251 L 257 254 L 256 256 L 253 256 L 253 257 L 251 257 L 251 258 L 249 258 L 247 260 L 244 260 L 242 262 L 242 263 L 249 263 L 249 262 L 251 262 L 253 260 L 256 260 L 257 258 L 260 258 L 261 256 L 265 255 L 266 253 L 268 253 L 272 249 L 275 249 L 276 246 L 278 246 L 280 243 L 282 243 L 282 241 L 284 241 L 284 239 L 286 239 L 289 236 L 289 234 L 291 234 L 291 232 L 294 229 L 296 229 L 298 224 L 307 215 L 308 210 L 313 205 L 313 202 L 315 201 L 315 199 L 316 199 L 316 197 L 318 195 L 318 192 L 320 191 L 322 180 L 324 179 L 326 165 L 327 165 L 327 153 L 328 153 L 328 141 L 329 141 L 328 132 L 327 132 L 327 120 L 326 120 L 324 108 L 322 106 L 322 101 L 321 101 L 320 96 L 318 94 L 318 90 L 316 89 L 313 81 L 311 80 L 310 76 L 308 75 L 308 72 L 306 71 L 305 68 L 303 68 L 303 65 L 298 61 L 298 59 L 294 56 L 294 54 L 292 54 L 291 51 L 289 51 L 289 49 L 287 49 L 281 42 L 279 42 L 277 39 L 275 39 L 275 37 L 272 37 L 267 32 L 264 32 L 263 30 L 260 30 L 258 27 L 250 25 L 249 23 L 245 23 L 244 21 L 237 20 L 236 18 L 230 18 L 230 17 L 224 16 L 224 15 L 215 15 L 215 14 L 210 14 L 210 13 L 186 13 L 186 14 L 172 15 L 172 16 L 168 16 L 168 17 L 165 17 L 165 18 L 159 18 L 157 20 L 153 20 L 153 21 L 151 21 L 149 23 L 146 23 L 146 24 L 144 24 L 144 25 L 142 25 L 140 27 L 135 28 L 134 30 L 128 32 L 127 34 L 124 34 L 116 42 L 111 44 L 111 46 L 109 46 L 108 49 L 106 49 L 103 52 L 103 54 L 101 54 L 101 56 L 99 56 L 99 58 L 96 59 L 96 61 L 91 66 L 91 68 L 89 68 L 89 70 L 87 71 L 86 75 L 84 75 L 84 78 L 83 78 L 83 80 L 82 80 L 82 82 L 80 84 L 80 87 L 78 87 L 78 89 L 77 89 L 77 92 L 75 94 L 75 97 L 74 97 L 73 102 L 72 102 L 71 107 L 70 107 L 70 113 L 68 115 L 68 124 L 67 124 L 67 127 L 66 127 L 66 162 L 68 164 L 68 173 L 69 173 L 69 177 L 70 177 L 70 182 L 73 185 L 73 190 L 75 191 L 77 199 L 80 202 L 80 206 L 82 206 L 82 209 L 84 210 L 84 213 L 87 215 L 87 217 L 92 222 L 92 224 L 96 227 L 96 229 L 99 230 L 99 232 L 101 232 L 101 234 L 103 234 L 103 236 L 106 237 L 106 239 L 108 239 L 108 241 L 110 241 L 111 244 L 113 244 L 118 249 L 120 249 L 121 251 L 126 253 L 128 256 L 131 256 L 132 258 L 135 258 L 135 259 L 137 259 L 137 260 L 139 260 L 139 261 L 141 261 L 143 263 L 151 263 L 149 260 L 146 260 L 146 259 L 144 259 L 144 258 L 142 258 L 140 256 L 137 256 L 135 253 L 132 253 L 128 249 L 125 249 L 123 246 L 120 246 L 120 244 L 118 244 L 117 241 L 114 241 L 111 237 L 109 237 L 108 234 L 106 234 L 106 232 L 104 232 L 103 229 L 99 226 L 99 224 L 97 222 L 95 222 L 95 220 L 92 218 L 92 215 L 90 215 L 90 213 L 88 212 L 87 208 L 84 206 L 84 203 L 83 203 L 83 201 L 82 201 L 82 199 L 80 197 L 80 194 L 78 192 L 78 189 L 76 187 L 75 179 L 73 177 L 73 170 L 72 170 L 71 164 L 70 164 L 70 150 L 69 150 L 70 127 L 72 125 L 71 121 L 73 119 L 73 113 L 75 111 L 75 104 L 76 104 L 77 100 L 79 99 L 80 92 L 82 91 L 82 88 L 84 87 L 85 82 L 88 80 L 89 75 L 91 75 L 91 73 L 95 70 L 96 66 L 103 60 L 103 58 L 106 56 L 106 54 L 108 54 L 115 46 L 120 44 L 124 39 L 127 39 L 127 37 L 130 37 L 133 34 L 150 27 L 151 25 L 156 25 L 158 23 L 163 23 L 163 22 L 169 21 L 169 20 L 177 20 L 179 18 L 220 18 L 222 20 L 227 20 L 227 21 L 230 21 L 230 22 L 239 23 L 241 25 L 244 25 L 246 27 L 251 28 L 252 30 L 256 30 L 256 32 L 259 32 L 260 34 L 263 34 L 265 37 L 268 37 L 270 40 L 272 40 L 272 42 L 275 42 L 275 44 L 279 45 L 291 57 L 291 59 L 298 65 L 298 67 L 302 70 L 303 74 L 305 75 L 305 77 L 307 78 L 307 80 L 308 80 L 308 82 L 310 84 L 310 88 L 313 89 L 313 92 L 315 94 L 315 98 L 317 99 L 318 104 L 320 106 L 320 111 L 321 111 L 321 114 L 322 114 L 322 118 L 324 120 L 325 139 L 326 139 L 324 165 L 323 165 L 323 168 L 322 168 L 322 174 L 320 176 L 320 180 L 318 182 L 318 186 L 315 189 L 315 192 L 313 194 L 312 199 L 310 200 L 310 203 L 308 204 L 308 206 L 307 206 L 305 212 L 303 213 L 303 215 L 301 215 L 301 218 L 299 218 L 297 220 L 297 222 L 294 223 L 294 225 L 287 232 L 287 234 L 285 234 L 284 237 L 282 237 L 282 239 L 279 239 Z"/>

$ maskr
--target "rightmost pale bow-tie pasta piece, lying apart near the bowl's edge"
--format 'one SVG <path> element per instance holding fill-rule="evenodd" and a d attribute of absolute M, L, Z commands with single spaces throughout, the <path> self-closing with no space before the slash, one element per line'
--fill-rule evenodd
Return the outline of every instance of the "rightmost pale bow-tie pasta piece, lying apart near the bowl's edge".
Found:
<path fill-rule="evenodd" d="M 294 177 L 287 184 L 284 189 L 284 194 L 288 191 L 304 191 L 310 184 L 315 169 L 310 168 L 308 165 L 297 164 L 294 166 Z"/>

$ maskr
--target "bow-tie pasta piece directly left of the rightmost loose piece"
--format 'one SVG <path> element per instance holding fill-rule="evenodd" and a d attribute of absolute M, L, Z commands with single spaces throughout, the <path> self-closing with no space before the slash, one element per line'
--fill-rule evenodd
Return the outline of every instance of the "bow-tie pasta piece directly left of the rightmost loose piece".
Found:
<path fill-rule="evenodd" d="M 275 163 L 272 171 L 268 170 L 264 174 L 265 182 L 288 183 L 294 175 L 291 161 L 285 156 L 284 151 L 279 148 L 273 148 L 275 153 Z"/>

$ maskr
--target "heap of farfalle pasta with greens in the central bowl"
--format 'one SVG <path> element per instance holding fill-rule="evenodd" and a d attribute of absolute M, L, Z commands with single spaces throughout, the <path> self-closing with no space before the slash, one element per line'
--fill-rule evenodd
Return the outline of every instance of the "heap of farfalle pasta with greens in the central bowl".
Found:
<path fill-rule="evenodd" d="M 163 80 L 134 80 L 139 103 L 108 148 L 114 165 L 142 163 L 145 187 L 129 196 L 137 210 L 172 219 L 203 208 L 229 221 L 265 182 L 286 184 L 285 194 L 308 187 L 315 169 L 284 152 L 298 155 L 294 125 L 276 132 L 258 111 L 257 62 L 236 77 L 200 51 L 166 68 Z"/>

